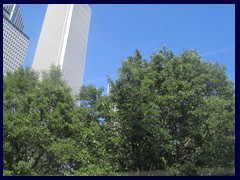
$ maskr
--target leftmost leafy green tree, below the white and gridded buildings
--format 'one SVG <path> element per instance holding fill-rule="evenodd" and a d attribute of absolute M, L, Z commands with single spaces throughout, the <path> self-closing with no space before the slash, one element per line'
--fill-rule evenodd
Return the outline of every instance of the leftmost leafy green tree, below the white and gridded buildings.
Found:
<path fill-rule="evenodd" d="M 52 67 L 42 81 L 29 68 L 8 74 L 4 78 L 4 169 L 15 175 L 58 173 L 49 149 L 70 136 L 73 107 L 59 69 Z"/>

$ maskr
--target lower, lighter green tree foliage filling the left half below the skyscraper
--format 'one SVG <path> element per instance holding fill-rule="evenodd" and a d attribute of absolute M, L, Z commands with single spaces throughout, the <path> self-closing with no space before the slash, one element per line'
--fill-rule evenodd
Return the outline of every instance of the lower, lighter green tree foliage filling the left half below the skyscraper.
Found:
<path fill-rule="evenodd" d="M 102 112 L 95 110 L 94 97 L 101 93 L 88 96 L 91 88 L 83 88 L 80 98 L 92 106 L 76 106 L 57 67 L 41 80 L 28 68 L 8 74 L 4 78 L 4 174 L 114 173 L 117 166 L 111 147 L 117 146 L 117 136 L 97 121 Z"/>

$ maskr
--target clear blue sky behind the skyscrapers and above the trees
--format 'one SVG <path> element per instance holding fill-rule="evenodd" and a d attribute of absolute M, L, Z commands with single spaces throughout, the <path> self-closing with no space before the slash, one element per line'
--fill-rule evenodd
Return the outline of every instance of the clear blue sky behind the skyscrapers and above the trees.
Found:
<path fill-rule="evenodd" d="M 196 49 L 204 61 L 228 67 L 235 82 L 235 5 L 106 5 L 92 10 L 84 70 L 85 85 L 107 87 L 107 75 L 117 78 L 121 62 L 138 48 L 151 52 L 167 45 L 175 54 Z M 24 66 L 31 66 L 47 5 L 22 4 L 30 46 Z"/>

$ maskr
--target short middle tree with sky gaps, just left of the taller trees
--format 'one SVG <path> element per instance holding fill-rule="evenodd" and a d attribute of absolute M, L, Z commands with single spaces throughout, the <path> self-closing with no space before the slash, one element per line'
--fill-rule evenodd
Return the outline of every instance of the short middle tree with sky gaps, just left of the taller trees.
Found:
<path fill-rule="evenodd" d="M 80 174 L 93 173 L 95 169 L 97 175 L 109 175 L 118 170 L 120 137 L 112 123 L 114 122 L 112 102 L 108 96 L 102 95 L 103 90 L 93 85 L 83 86 L 78 96 L 80 106 L 76 107 L 75 115 L 78 117 L 74 126 L 80 123 L 83 131 L 74 134 L 77 139 L 84 141 L 83 144 L 91 157 L 88 163 L 91 168 L 81 169 L 78 172 Z"/>

